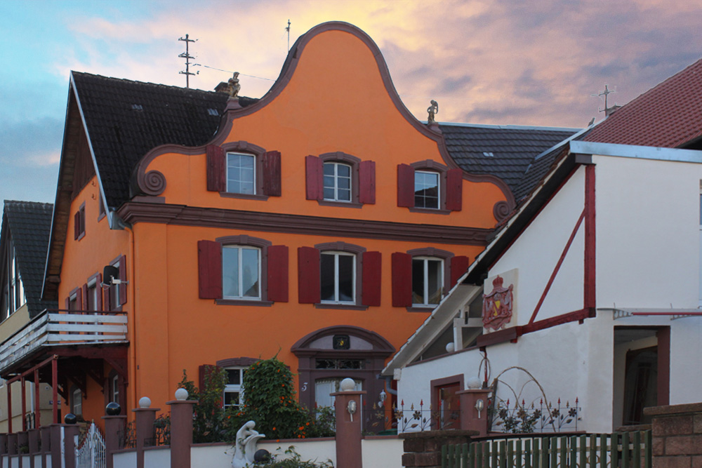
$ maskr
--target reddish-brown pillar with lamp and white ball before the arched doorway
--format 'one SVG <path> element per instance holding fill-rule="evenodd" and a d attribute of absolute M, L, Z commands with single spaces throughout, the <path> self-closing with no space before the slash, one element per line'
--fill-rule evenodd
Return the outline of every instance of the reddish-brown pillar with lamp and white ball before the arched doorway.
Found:
<path fill-rule="evenodd" d="M 341 392 L 331 394 L 336 410 L 336 467 L 362 468 L 361 396 L 352 379 L 341 381 Z"/>

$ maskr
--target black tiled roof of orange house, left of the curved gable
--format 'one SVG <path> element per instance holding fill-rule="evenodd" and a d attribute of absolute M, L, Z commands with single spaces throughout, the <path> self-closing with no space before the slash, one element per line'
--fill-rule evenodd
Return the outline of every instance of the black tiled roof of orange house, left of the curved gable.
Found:
<path fill-rule="evenodd" d="M 211 140 L 226 93 L 72 72 L 109 206 L 129 198 L 133 166 L 159 145 Z M 240 98 L 242 106 L 256 102 Z"/>

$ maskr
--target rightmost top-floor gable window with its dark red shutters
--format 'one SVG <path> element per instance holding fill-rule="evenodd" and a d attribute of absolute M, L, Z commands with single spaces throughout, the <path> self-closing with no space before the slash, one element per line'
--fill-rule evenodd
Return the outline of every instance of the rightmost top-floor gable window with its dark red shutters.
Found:
<path fill-rule="evenodd" d="M 427 160 L 397 166 L 397 206 L 425 213 L 460 211 L 463 170 Z"/>

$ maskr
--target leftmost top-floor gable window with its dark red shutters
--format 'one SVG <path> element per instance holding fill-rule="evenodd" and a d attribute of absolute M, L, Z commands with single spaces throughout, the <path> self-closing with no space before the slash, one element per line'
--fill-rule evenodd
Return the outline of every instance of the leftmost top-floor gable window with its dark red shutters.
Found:
<path fill-rule="evenodd" d="M 265 200 L 280 196 L 280 152 L 238 141 L 207 145 L 207 189 L 220 196 Z"/>

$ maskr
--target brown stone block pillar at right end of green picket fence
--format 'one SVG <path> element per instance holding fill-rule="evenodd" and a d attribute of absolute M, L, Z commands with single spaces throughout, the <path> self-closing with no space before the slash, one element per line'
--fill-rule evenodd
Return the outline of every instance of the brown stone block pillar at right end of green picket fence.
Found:
<path fill-rule="evenodd" d="M 702 467 L 702 403 L 644 408 L 651 416 L 653 468 Z"/>

